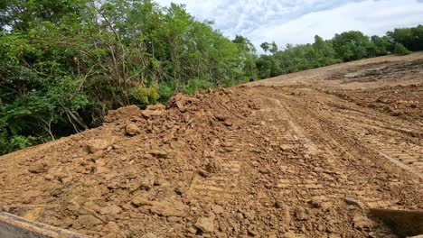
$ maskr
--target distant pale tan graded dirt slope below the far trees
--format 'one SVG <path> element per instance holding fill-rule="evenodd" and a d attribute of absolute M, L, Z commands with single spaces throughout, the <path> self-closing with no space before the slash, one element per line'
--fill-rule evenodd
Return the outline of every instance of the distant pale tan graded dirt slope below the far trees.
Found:
<path fill-rule="evenodd" d="M 249 85 L 369 89 L 421 83 L 422 78 L 423 52 L 418 52 L 407 56 L 383 56 L 310 69 Z"/>

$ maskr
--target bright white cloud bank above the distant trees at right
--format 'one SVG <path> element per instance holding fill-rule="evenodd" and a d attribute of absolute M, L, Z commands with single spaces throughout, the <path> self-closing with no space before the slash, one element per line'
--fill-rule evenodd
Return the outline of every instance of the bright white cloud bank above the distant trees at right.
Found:
<path fill-rule="evenodd" d="M 423 4 L 416 0 L 362 1 L 317 13 L 302 15 L 287 23 L 262 25 L 249 33 L 256 44 L 262 41 L 307 43 L 315 34 L 329 39 L 335 33 L 357 30 L 382 35 L 393 28 L 423 23 Z"/>

